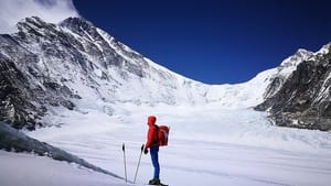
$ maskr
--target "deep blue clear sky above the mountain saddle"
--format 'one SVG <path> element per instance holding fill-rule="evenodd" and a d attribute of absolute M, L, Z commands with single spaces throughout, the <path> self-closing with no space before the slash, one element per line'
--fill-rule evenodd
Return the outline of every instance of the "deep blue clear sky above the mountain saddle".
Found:
<path fill-rule="evenodd" d="M 79 14 L 153 62 L 206 84 L 247 81 L 331 42 L 328 0 L 74 0 Z"/>

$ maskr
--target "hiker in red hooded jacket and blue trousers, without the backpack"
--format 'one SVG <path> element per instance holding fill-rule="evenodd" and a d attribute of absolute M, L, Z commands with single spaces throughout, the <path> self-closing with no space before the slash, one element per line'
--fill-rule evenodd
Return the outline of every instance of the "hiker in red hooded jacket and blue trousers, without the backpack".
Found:
<path fill-rule="evenodd" d="M 150 157 L 154 167 L 154 175 L 149 185 L 162 185 L 160 182 L 160 164 L 159 164 L 159 143 L 158 143 L 158 125 L 156 124 L 157 117 L 149 116 L 147 119 L 148 133 L 147 142 L 145 144 L 143 153 L 148 153 L 150 149 Z"/>

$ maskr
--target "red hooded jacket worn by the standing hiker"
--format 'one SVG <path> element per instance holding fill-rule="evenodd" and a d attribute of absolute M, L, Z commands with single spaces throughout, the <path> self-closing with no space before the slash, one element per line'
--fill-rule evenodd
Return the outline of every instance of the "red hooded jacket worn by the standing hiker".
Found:
<path fill-rule="evenodd" d="M 158 131 L 157 131 L 156 121 L 157 121 L 157 117 L 154 117 L 154 116 L 148 117 L 147 142 L 145 144 L 146 150 L 152 145 L 158 145 Z"/>

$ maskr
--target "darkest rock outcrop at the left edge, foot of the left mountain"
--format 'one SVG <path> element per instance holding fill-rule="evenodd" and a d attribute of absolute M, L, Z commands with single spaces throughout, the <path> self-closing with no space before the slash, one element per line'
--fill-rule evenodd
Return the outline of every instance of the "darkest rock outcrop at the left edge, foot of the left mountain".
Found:
<path fill-rule="evenodd" d="M 45 109 L 30 102 L 31 88 L 29 80 L 15 64 L 0 57 L 0 120 L 20 129 L 25 125 L 34 129 L 39 116 Z"/>

